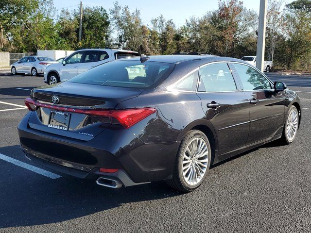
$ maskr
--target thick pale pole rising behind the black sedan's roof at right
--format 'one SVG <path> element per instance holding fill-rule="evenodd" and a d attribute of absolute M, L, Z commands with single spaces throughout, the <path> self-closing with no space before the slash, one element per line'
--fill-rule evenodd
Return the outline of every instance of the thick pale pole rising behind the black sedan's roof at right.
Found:
<path fill-rule="evenodd" d="M 256 67 L 261 70 L 261 72 L 263 71 L 264 48 L 266 42 L 266 16 L 267 0 L 260 0 Z"/>

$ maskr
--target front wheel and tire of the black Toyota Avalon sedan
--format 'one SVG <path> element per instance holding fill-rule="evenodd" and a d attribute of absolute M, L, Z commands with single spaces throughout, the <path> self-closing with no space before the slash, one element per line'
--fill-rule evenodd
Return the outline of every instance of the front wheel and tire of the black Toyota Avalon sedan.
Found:
<path fill-rule="evenodd" d="M 299 126 L 299 115 L 297 108 L 292 105 L 287 112 L 286 122 L 282 134 L 282 142 L 284 144 L 291 144 L 295 138 Z"/>

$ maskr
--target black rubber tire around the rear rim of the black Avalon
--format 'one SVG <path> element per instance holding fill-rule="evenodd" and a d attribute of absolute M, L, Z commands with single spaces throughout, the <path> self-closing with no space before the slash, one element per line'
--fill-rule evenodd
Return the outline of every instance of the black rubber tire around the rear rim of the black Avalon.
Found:
<path fill-rule="evenodd" d="M 188 184 L 183 176 L 183 156 L 184 153 L 186 152 L 186 149 L 188 147 L 188 145 L 190 144 L 190 142 L 194 139 L 194 138 L 201 138 L 205 141 L 206 145 L 207 145 L 207 150 L 208 150 L 208 162 L 207 162 L 207 168 L 206 171 L 203 175 L 203 178 L 201 179 L 200 182 L 198 182 L 195 185 L 190 185 Z M 166 183 L 171 186 L 173 189 L 176 189 L 178 191 L 181 192 L 192 192 L 193 190 L 197 189 L 204 181 L 207 173 L 208 173 L 208 169 L 210 166 L 210 161 L 211 161 L 211 149 L 210 149 L 210 144 L 208 141 L 207 136 L 199 131 L 199 130 L 190 130 L 184 137 L 184 139 L 181 141 L 181 144 L 179 146 L 179 149 L 177 151 L 177 155 L 176 155 L 176 159 L 175 159 L 175 164 L 174 164 L 174 168 L 173 168 L 173 177 L 170 180 L 166 180 Z"/>

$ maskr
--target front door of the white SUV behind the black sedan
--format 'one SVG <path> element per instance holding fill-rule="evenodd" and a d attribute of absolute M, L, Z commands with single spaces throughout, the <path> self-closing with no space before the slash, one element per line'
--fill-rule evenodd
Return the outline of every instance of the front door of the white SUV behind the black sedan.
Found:
<path fill-rule="evenodd" d="M 78 74 L 78 66 L 82 62 L 85 51 L 78 51 L 72 53 L 68 58 L 65 59 L 65 63 L 59 69 L 59 75 L 61 81 L 71 79 Z"/>

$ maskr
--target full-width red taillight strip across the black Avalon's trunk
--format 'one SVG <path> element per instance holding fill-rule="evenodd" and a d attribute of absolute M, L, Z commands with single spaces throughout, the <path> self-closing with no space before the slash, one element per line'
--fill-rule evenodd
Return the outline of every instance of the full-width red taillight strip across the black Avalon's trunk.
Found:
<path fill-rule="evenodd" d="M 129 128 L 147 116 L 156 112 L 155 108 L 133 108 L 121 110 L 106 109 L 77 109 L 45 103 L 39 103 L 31 98 L 25 100 L 25 105 L 30 111 L 35 111 L 38 107 L 50 108 L 69 113 L 81 113 L 111 124 L 121 124 L 124 128 Z"/>

